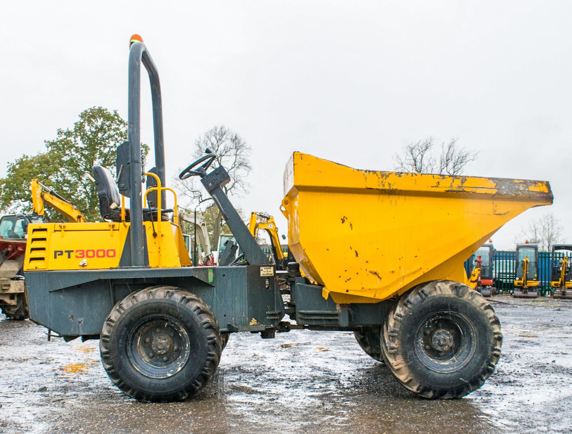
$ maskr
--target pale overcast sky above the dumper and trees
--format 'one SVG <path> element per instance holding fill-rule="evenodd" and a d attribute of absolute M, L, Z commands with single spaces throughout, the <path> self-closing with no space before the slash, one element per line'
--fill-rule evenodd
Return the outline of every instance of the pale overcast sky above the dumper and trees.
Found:
<path fill-rule="evenodd" d="M 466 174 L 550 181 L 554 205 L 505 225 L 497 249 L 545 212 L 572 242 L 571 16 L 568 1 L 2 2 L 0 176 L 88 107 L 127 117 L 139 33 L 160 72 L 168 174 L 227 125 L 252 146 L 251 193 L 233 201 L 274 213 L 282 233 L 294 150 L 391 170 L 402 146 L 434 136 L 479 150 Z"/>

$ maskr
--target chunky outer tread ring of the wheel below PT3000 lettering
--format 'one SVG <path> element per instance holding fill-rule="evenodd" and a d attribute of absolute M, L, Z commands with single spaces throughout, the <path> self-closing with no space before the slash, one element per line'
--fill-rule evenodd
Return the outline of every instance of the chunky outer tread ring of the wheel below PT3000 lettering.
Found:
<path fill-rule="evenodd" d="M 134 304 L 137 304 L 140 301 L 149 300 L 151 298 L 169 298 L 170 300 L 173 300 L 177 303 L 189 306 L 190 310 L 192 310 L 192 312 L 200 320 L 201 327 L 208 332 L 208 352 L 206 357 L 206 366 L 202 370 L 200 376 L 198 376 L 198 378 L 192 383 L 190 389 L 177 392 L 174 395 L 169 396 L 167 399 L 163 399 L 162 401 L 166 402 L 172 400 L 184 400 L 203 388 L 210 381 L 213 375 L 215 375 L 222 351 L 220 329 L 215 316 L 209 307 L 205 304 L 205 302 L 201 300 L 201 298 L 190 292 L 186 292 L 180 288 L 177 288 L 176 286 L 152 286 L 150 288 L 141 289 L 138 292 L 130 294 L 123 300 L 117 302 L 105 320 L 104 327 L 101 331 L 101 361 L 104 365 L 105 371 L 109 375 L 109 378 L 113 381 L 114 384 L 117 385 L 118 388 L 127 393 L 127 395 L 142 402 L 153 401 L 152 397 L 128 387 L 128 385 L 126 385 L 124 381 L 121 380 L 113 366 L 113 361 L 111 360 L 108 348 L 109 336 L 112 333 L 113 325 L 115 322 L 117 322 L 121 314 Z"/>

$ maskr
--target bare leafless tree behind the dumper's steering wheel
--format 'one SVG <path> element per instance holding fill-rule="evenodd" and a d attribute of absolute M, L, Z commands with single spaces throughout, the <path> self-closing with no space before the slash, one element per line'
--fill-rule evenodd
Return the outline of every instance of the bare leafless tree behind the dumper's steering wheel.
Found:
<path fill-rule="evenodd" d="M 250 185 L 247 182 L 247 176 L 252 170 L 249 152 L 252 148 L 248 146 L 247 142 L 226 126 L 216 125 L 194 141 L 193 158 L 203 156 L 206 148 L 215 152 L 217 156 L 212 168 L 223 166 L 231 176 L 231 182 L 223 187 L 225 193 L 236 197 L 242 197 L 243 194 L 248 193 Z M 180 196 L 187 199 L 187 208 L 206 205 L 206 202 L 212 201 L 212 197 L 202 188 L 197 177 L 190 177 L 184 181 L 175 177 L 174 181 Z M 221 230 L 224 228 L 223 215 L 215 202 L 210 202 L 206 206 L 205 212 L 213 214 L 213 227 L 208 229 L 209 233 L 212 234 L 211 243 L 216 246 Z M 207 226 L 209 226 L 210 219 L 206 220 Z"/>

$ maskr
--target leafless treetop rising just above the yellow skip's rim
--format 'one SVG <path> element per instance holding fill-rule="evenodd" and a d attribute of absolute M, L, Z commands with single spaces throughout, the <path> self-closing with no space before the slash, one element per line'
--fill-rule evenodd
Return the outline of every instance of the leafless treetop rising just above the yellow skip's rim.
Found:
<path fill-rule="evenodd" d="M 440 173 L 459 175 L 465 166 L 478 158 L 479 153 L 460 148 L 457 138 L 440 145 L 440 154 L 436 156 L 436 144 L 433 137 L 426 137 L 416 143 L 403 147 L 402 154 L 395 154 L 395 170 L 400 172 Z"/>

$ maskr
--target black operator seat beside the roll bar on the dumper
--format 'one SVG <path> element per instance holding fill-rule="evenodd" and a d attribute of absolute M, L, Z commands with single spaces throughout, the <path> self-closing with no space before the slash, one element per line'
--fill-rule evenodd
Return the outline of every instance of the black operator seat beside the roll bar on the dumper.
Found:
<path fill-rule="evenodd" d="M 100 213 L 105 220 L 121 221 L 121 194 L 111 172 L 104 166 L 93 166 L 93 177 L 97 184 L 97 196 L 100 199 Z M 165 213 L 173 209 L 161 209 L 161 220 L 169 221 Z M 125 208 L 125 221 L 129 221 L 129 209 Z M 157 218 L 157 208 L 143 208 L 143 221 Z"/>

